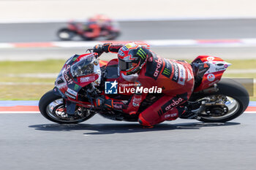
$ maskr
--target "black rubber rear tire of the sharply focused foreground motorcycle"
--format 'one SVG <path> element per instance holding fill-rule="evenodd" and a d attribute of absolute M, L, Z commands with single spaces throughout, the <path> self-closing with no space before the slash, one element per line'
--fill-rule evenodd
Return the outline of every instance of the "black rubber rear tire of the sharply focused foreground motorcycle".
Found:
<path fill-rule="evenodd" d="M 189 100 L 196 101 L 200 98 L 206 98 L 207 96 L 218 96 L 223 95 L 233 98 L 233 102 L 236 103 L 236 110 L 230 116 L 225 114 L 223 117 L 201 117 L 200 121 L 205 123 L 225 123 L 227 121 L 233 120 L 240 116 L 249 104 L 249 94 L 239 82 L 231 79 L 223 79 L 217 83 L 219 90 L 216 93 L 208 93 L 203 95 L 192 95 Z M 230 111 L 229 111 L 230 112 Z"/>

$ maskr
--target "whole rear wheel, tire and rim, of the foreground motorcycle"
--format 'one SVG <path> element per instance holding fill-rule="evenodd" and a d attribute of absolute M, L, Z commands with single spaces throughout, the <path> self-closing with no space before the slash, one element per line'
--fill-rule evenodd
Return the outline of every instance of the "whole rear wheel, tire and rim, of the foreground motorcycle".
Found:
<path fill-rule="evenodd" d="M 206 123 L 225 123 L 240 116 L 249 104 L 249 94 L 240 83 L 224 79 L 217 83 L 216 93 L 193 95 L 190 100 L 206 103 L 199 120 Z"/>

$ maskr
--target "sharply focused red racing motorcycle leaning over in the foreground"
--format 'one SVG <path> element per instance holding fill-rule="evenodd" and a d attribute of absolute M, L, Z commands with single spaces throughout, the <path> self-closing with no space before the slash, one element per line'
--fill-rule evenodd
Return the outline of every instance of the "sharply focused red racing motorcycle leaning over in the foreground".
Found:
<path fill-rule="evenodd" d="M 221 80 L 230 63 L 221 58 L 200 55 L 191 65 L 195 88 L 189 101 L 183 104 L 188 109 L 181 118 L 187 119 L 193 115 L 193 118 L 202 122 L 225 123 L 244 112 L 249 104 L 247 90 L 234 80 Z M 107 82 L 126 83 L 118 73 L 117 58 L 109 62 L 99 61 L 98 54 L 92 51 L 73 55 L 64 63 L 56 79 L 55 88 L 39 100 L 39 111 L 55 123 L 81 123 L 95 114 L 111 120 L 136 122 L 138 115 L 96 107 L 95 98 L 102 95 L 105 98 L 124 101 L 129 99 L 131 93 L 108 94 L 106 90 Z M 173 71 L 173 74 L 176 72 Z M 148 93 L 138 112 L 143 112 L 161 95 Z"/>

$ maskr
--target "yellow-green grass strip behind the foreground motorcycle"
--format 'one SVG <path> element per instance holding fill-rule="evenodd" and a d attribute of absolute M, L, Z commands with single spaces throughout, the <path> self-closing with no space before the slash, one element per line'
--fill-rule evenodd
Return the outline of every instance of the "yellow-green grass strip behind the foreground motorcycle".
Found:
<path fill-rule="evenodd" d="M 227 62 L 233 64 L 228 69 L 256 69 L 256 60 Z M 1 61 L 0 100 L 39 100 L 44 93 L 53 88 L 55 78 L 22 77 L 22 74 L 56 74 L 59 73 L 64 63 L 64 60 Z M 224 74 L 224 77 L 251 77 L 256 79 L 256 74 Z M 8 82 L 14 83 L 8 85 Z M 256 92 L 256 89 L 254 91 Z M 256 100 L 256 93 L 251 97 L 251 100 Z"/>

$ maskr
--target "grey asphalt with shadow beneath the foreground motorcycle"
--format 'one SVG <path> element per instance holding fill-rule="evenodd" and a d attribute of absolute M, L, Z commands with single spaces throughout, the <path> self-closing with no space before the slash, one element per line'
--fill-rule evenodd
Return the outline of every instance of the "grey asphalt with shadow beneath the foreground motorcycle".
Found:
<path fill-rule="evenodd" d="M 255 114 L 230 123 L 176 120 L 141 128 L 95 115 L 78 125 L 0 115 L 1 169 L 255 169 Z"/>

